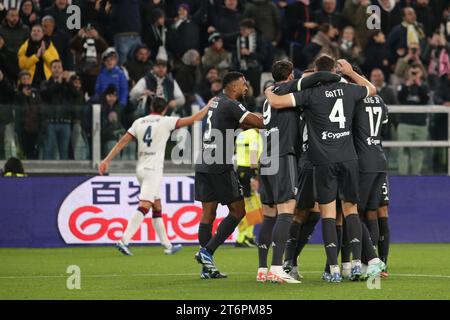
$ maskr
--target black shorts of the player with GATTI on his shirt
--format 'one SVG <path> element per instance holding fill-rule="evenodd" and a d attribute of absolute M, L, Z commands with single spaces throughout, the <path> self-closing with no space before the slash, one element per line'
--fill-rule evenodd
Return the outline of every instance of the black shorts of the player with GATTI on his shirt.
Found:
<path fill-rule="evenodd" d="M 314 195 L 319 204 L 336 200 L 358 203 L 358 160 L 314 166 Z"/>

